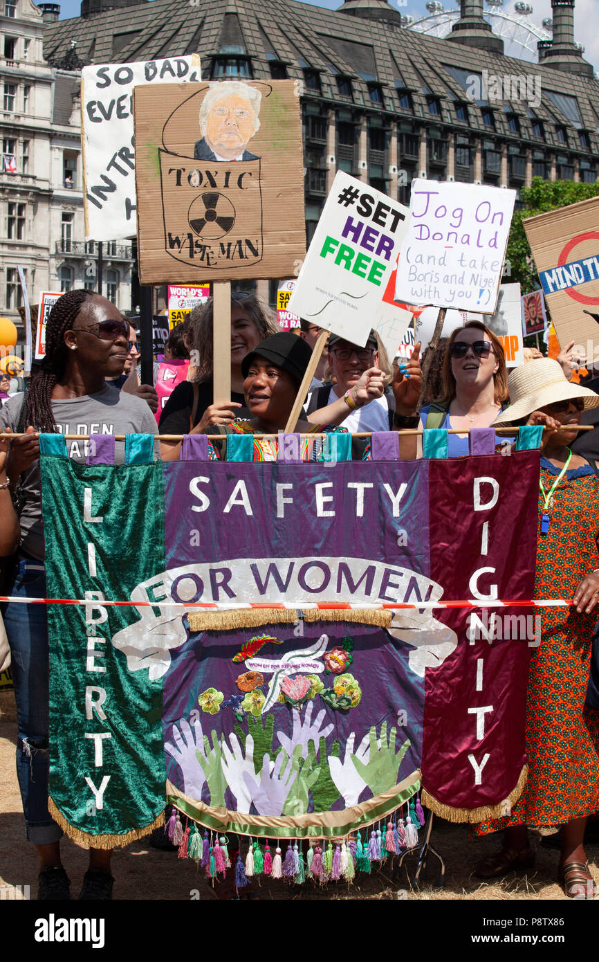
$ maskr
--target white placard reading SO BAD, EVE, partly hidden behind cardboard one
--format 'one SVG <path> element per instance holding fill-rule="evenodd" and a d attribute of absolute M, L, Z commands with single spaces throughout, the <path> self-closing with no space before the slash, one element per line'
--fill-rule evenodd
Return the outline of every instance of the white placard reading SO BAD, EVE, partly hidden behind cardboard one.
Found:
<path fill-rule="evenodd" d="M 197 54 L 83 68 L 81 140 L 87 241 L 125 241 L 136 236 L 134 87 L 200 77 Z"/>

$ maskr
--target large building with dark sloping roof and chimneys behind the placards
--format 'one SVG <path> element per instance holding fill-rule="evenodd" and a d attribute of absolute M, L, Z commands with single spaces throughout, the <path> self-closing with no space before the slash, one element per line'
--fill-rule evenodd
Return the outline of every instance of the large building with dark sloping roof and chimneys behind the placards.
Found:
<path fill-rule="evenodd" d="M 46 25 L 44 57 L 199 53 L 207 79 L 296 80 L 308 241 L 337 169 L 405 203 L 416 176 L 518 191 L 533 176 L 594 183 L 599 83 L 574 42 L 574 0 L 552 0 L 553 40 L 539 43 L 539 63 L 504 56 L 483 0 L 461 2 L 439 39 L 407 30 L 387 0 L 345 0 L 337 11 L 296 0 L 84 0 L 81 17 Z"/>

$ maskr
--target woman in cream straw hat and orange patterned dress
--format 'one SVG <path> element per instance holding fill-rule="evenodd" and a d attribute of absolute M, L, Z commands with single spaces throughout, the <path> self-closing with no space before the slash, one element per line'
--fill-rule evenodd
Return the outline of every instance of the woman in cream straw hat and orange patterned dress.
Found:
<path fill-rule="evenodd" d="M 573 598 L 544 608 L 540 646 L 533 649 L 526 722 L 528 781 L 512 814 L 479 826 L 505 828 L 502 847 L 479 863 L 482 878 L 533 865 L 527 825 L 562 825 L 559 877 L 570 898 L 599 889 L 583 845 L 587 816 L 599 809 L 599 712 L 585 707 L 591 636 L 599 599 L 599 480 L 572 453 L 581 412 L 599 395 L 566 380 L 557 361 L 516 367 L 508 378 L 512 405 L 495 423 L 542 424 L 535 597 Z"/>

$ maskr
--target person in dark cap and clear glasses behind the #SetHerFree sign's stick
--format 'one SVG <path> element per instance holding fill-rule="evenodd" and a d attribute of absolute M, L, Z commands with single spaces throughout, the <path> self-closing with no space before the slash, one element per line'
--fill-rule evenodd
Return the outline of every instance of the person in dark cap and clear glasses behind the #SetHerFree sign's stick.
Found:
<path fill-rule="evenodd" d="M 343 401 L 344 417 L 333 418 L 331 423 L 341 423 L 348 431 L 388 431 L 393 419 L 393 394 L 385 386 L 385 373 L 379 367 L 379 342 L 371 331 L 363 347 L 344 341 L 337 334 L 329 338 L 329 366 L 334 384 L 324 384 L 308 396 L 306 411 L 312 414 L 327 405 Z M 366 391 L 358 392 L 356 386 L 362 378 Z"/>

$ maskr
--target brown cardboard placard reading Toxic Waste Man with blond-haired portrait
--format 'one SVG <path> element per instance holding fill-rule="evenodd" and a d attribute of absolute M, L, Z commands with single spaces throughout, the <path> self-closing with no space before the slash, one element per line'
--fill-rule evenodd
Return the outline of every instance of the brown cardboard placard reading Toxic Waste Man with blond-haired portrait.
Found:
<path fill-rule="evenodd" d="M 142 284 L 279 278 L 306 251 L 291 80 L 134 91 Z"/>

